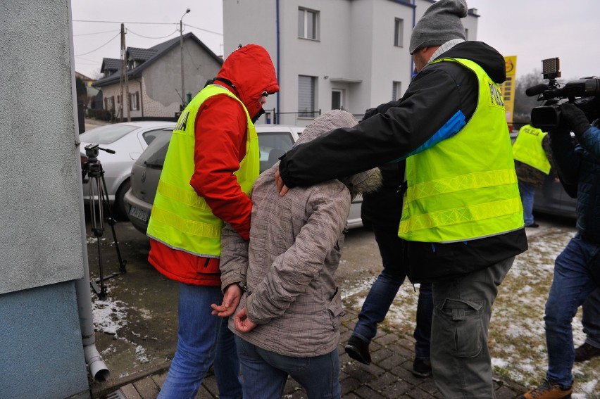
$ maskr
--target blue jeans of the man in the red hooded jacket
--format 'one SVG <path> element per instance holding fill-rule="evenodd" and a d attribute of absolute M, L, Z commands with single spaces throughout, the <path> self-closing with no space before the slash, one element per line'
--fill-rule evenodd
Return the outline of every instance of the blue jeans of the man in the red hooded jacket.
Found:
<path fill-rule="evenodd" d="M 211 315 L 222 301 L 220 286 L 180 284 L 177 350 L 158 398 L 194 398 L 213 362 L 219 398 L 242 398 L 233 333 L 226 317 Z"/>

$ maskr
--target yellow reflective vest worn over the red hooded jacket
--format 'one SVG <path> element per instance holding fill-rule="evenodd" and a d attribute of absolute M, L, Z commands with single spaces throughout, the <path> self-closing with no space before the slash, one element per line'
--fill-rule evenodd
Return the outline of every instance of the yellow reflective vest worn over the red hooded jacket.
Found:
<path fill-rule="evenodd" d="M 194 125 L 196 113 L 206 99 L 227 94 L 239 101 L 248 120 L 246 156 L 234 173 L 244 193 L 249 194 L 258 177 L 258 136 L 246 107 L 234 94 L 211 84 L 183 110 L 170 139 L 161 179 L 158 182 L 147 235 L 170 248 L 206 258 L 220 258 L 223 220 L 213 215 L 204 198 L 189 184 L 194 173 Z"/>

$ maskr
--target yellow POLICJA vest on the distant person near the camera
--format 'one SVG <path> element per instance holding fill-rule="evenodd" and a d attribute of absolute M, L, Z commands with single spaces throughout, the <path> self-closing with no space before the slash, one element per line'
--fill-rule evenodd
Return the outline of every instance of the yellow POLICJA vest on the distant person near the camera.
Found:
<path fill-rule="evenodd" d="M 542 146 L 542 140 L 546 137 L 546 134 L 548 133 L 542 132 L 541 129 L 537 129 L 532 125 L 521 127 L 513 144 L 513 156 L 515 160 L 526 163 L 549 175 L 551 166 Z"/>

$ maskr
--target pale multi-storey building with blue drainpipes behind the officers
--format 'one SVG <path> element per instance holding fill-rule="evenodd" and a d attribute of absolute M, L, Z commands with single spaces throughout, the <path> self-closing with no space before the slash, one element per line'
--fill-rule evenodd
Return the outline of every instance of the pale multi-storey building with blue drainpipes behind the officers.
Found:
<path fill-rule="evenodd" d="M 330 109 L 363 115 L 399 99 L 411 80 L 413 26 L 431 0 L 223 0 L 225 54 L 264 46 L 280 94 L 261 122 L 308 125 Z M 463 25 L 477 37 L 477 11 Z M 275 110 L 275 117 L 273 116 Z"/>

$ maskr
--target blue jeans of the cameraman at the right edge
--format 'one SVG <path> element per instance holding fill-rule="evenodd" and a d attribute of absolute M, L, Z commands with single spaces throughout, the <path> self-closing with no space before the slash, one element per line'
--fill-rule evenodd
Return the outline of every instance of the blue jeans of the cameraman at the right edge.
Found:
<path fill-rule="evenodd" d="M 592 270 L 600 267 L 600 246 L 577 233 L 554 262 L 554 280 L 546 301 L 546 379 L 561 386 L 573 384 L 573 316 L 595 289 Z"/>

